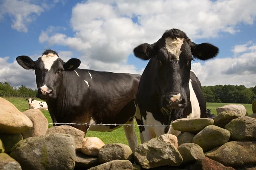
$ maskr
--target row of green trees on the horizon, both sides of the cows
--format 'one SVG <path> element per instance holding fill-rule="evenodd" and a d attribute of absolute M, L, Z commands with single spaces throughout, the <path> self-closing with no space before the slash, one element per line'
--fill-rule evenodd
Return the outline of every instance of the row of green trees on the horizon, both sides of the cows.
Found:
<path fill-rule="evenodd" d="M 206 102 L 215 103 L 252 103 L 256 99 L 256 86 L 246 88 L 244 85 L 215 85 L 202 87 Z M 0 82 L 2 97 L 35 97 L 36 89 L 24 85 L 14 87 L 9 82 Z"/>

